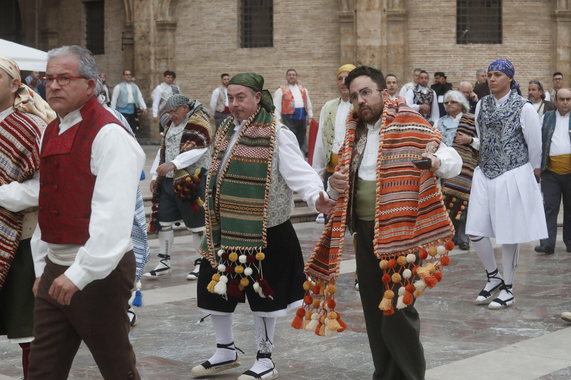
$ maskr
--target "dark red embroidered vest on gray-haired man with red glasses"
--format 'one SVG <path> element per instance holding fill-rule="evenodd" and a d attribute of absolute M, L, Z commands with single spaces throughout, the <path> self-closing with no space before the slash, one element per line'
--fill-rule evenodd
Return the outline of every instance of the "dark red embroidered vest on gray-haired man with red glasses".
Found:
<path fill-rule="evenodd" d="M 38 224 L 42 240 L 52 244 L 85 244 L 89 239 L 96 179 L 91 173 L 91 145 L 103 126 L 121 125 L 96 96 L 87 100 L 80 112 L 83 120 L 61 135 L 59 118 L 48 124 L 43 134 Z"/>

